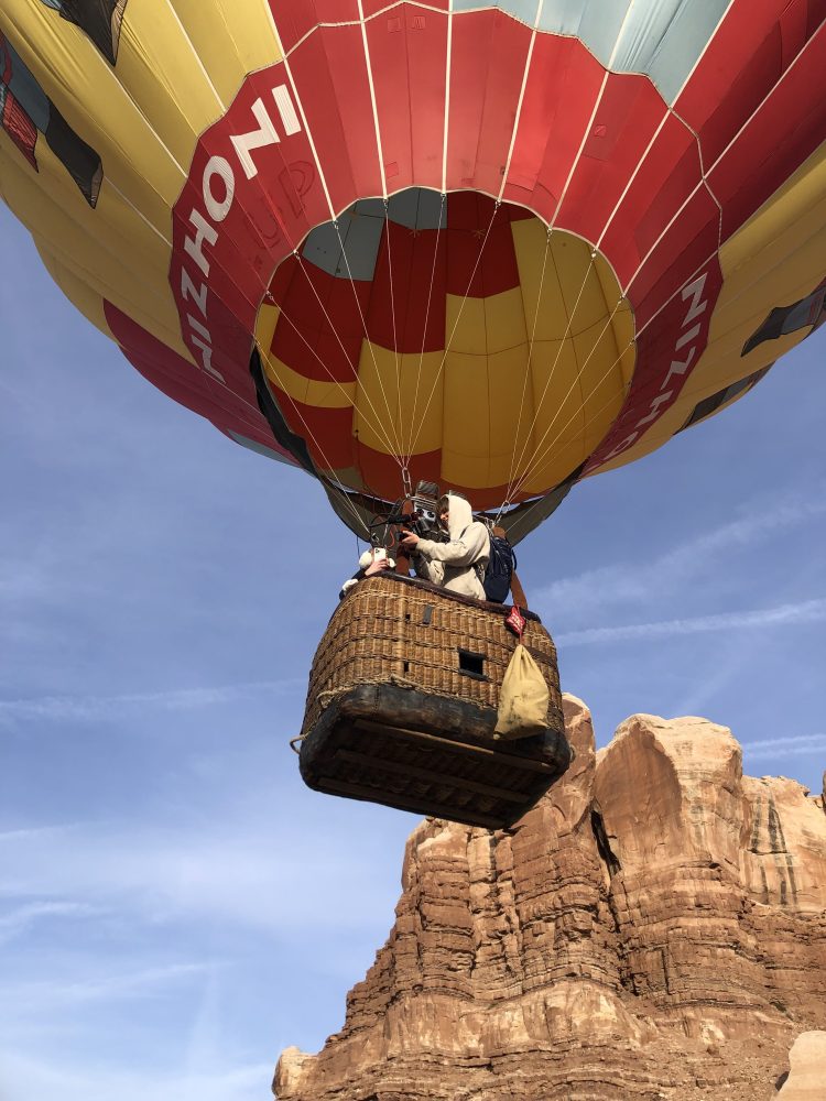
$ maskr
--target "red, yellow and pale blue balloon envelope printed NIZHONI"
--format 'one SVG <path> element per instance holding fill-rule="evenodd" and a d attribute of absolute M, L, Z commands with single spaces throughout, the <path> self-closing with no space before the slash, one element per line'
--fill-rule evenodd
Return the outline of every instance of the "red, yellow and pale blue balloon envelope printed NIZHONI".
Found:
<path fill-rule="evenodd" d="M 515 543 L 826 294 L 825 0 L 3 0 L 0 189 L 175 401 Z M 8 261 L 7 261 L 8 263 Z"/>

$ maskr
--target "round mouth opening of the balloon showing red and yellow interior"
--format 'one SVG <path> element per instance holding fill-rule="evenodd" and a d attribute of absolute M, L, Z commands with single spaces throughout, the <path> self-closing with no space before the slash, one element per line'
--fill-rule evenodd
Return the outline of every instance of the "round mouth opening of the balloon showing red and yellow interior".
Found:
<path fill-rule="evenodd" d="M 616 418 L 633 316 L 607 259 L 472 190 L 359 199 L 275 270 L 262 375 L 319 473 L 392 501 L 405 480 L 477 509 L 558 489 Z"/>

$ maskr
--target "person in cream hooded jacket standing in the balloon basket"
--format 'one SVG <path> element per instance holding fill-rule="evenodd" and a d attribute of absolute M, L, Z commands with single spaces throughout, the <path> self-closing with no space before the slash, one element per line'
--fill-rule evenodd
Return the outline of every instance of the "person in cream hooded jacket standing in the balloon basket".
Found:
<path fill-rule="evenodd" d="M 423 539 L 415 532 L 406 532 L 400 546 L 412 556 L 419 577 L 450 592 L 485 600 L 481 578 L 490 557 L 488 528 L 474 520 L 470 502 L 458 493 L 439 499 L 438 517 L 447 527 L 449 543 Z"/>

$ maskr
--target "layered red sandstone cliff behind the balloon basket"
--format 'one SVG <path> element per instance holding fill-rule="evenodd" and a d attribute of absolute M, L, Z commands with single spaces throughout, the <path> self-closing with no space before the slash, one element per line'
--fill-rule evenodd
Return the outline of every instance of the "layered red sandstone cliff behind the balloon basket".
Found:
<path fill-rule="evenodd" d="M 413 831 L 390 937 L 281 1101 L 754 1101 L 826 1027 L 822 800 L 704 719 L 597 754 L 565 717 L 574 764 L 517 826 Z"/>

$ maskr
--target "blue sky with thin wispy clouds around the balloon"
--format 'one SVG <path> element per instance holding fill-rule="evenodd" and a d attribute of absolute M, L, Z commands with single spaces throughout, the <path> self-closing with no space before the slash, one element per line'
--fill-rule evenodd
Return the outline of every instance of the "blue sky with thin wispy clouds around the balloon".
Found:
<path fill-rule="evenodd" d="M 154 391 L 0 209 L 0 1097 L 252 1101 L 344 1020 L 416 818 L 298 777 L 354 537 L 297 470 Z M 824 335 L 519 549 L 598 744 L 731 727 L 826 764 Z"/>

